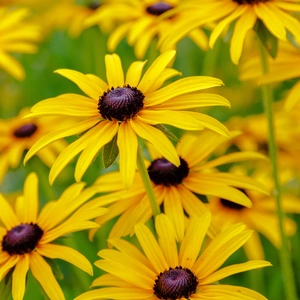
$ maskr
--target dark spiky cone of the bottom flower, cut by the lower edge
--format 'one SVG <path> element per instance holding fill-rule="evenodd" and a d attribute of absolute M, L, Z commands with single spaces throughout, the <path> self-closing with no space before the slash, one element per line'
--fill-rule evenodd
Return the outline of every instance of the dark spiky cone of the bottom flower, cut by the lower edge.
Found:
<path fill-rule="evenodd" d="M 160 273 L 155 280 L 153 290 L 159 299 L 189 299 L 195 293 L 197 285 L 198 280 L 195 274 L 180 266 Z"/>

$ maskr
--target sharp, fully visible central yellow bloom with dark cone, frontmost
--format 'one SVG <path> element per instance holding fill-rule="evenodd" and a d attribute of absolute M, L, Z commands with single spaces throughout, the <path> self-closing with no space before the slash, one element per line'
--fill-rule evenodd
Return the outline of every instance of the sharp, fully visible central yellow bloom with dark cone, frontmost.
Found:
<path fill-rule="evenodd" d="M 160 55 L 141 78 L 145 62 L 136 61 L 126 78 L 118 55 L 106 55 L 107 83 L 95 75 L 61 69 L 56 73 L 72 80 L 87 95 L 63 94 L 46 99 L 32 107 L 30 117 L 48 115 L 77 117 L 78 123 L 42 137 L 27 153 L 25 161 L 46 145 L 66 136 L 84 133 L 70 144 L 53 164 L 49 179 L 54 181 L 61 170 L 80 152 L 75 169 L 80 181 L 100 149 L 115 137 L 120 153 L 120 172 L 126 186 L 131 186 L 136 170 L 138 136 L 147 140 L 174 165 L 180 161 L 166 135 L 156 128 L 168 124 L 185 130 L 208 127 L 228 135 L 224 125 L 202 113 L 185 111 L 194 107 L 228 106 L 226 99 L 200 90 L 222 85 L 213 77 L 193 76 L 179 79 L 163 88 L 164 81 L 179 72 L 167 68 L 175 51 Z"/>

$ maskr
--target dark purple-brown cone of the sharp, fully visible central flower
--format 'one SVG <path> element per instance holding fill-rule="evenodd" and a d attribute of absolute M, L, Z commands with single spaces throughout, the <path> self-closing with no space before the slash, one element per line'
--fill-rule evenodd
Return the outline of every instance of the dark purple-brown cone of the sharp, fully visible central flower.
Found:
<path fill-rule="evenodd" d="M 100 97 L 98 110 L 104 119 L 126 121 L 144 107 L 144 94 L 136 87 L 111 88 Z"/>

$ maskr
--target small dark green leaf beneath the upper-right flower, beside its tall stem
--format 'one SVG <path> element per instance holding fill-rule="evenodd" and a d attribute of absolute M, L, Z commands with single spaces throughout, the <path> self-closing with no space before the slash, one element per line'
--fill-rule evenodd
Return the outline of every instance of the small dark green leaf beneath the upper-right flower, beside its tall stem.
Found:
<path fill-rule="evenodd" d="M 261 40 L 269 54 L 275 58 L 277 55 L 278 39 L 267 29 L 261 20 L 257 20 L 254 26 L 258 38 Z"/>

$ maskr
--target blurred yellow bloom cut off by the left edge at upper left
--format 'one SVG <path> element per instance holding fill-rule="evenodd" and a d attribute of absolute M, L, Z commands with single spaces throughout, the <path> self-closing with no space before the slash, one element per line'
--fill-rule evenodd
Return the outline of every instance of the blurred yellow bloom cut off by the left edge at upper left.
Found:
<path fill-rule="evenodd" d="M 35 53 L 40 40 L 39 27 L 24 20 L 28 15 L 25 8 L 0 7 L 0 68 L 18 80 L 25 72 L 9 53 Z"/>

